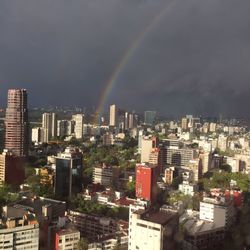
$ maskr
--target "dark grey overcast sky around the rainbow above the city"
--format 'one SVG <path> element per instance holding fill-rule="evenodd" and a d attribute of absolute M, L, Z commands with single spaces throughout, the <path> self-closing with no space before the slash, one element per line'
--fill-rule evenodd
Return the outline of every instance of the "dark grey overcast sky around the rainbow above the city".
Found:
<path fill-rule="evenodd" d="M 92 107 L 133 41 L 106 105 L 162 114 L 250 114 L 249 0 L 1 0 L 0 105 Z"/>

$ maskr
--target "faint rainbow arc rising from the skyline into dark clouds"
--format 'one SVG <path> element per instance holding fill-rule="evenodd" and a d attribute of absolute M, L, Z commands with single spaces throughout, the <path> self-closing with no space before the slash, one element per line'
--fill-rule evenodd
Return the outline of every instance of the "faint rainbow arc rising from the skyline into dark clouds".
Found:
<path fill-rule="evenodd" d="M 123 69 L 126 67 L 127 63 L 129 62 L 130 58 L 134 55 L 137 48 L 141 45 L 144 38 L 147 36 L 148 33 L 155 27 L 156 24 L 163 18 L 166 12 L 172 7 L 174 1 L 168 2 L 163 9 L 159 13 L 157 13 L 153 19 L 150 20 L 149 24 L 137 35 L 135 40 L 130 44 L 127 48 L 119 63 L 115 66 L 111 77 L 105 84 L 104 90 L 102 91 L 102 95 L 100 97 L 100 102 L 97 106 L 96 113 L 95 113 L 95 122 L 98 122 L 98 118 L 103 112 L 104 106 L 109 98 L 110 93 L 112 92 L 115 83 L 119 75 L 122 73 Z"/>

